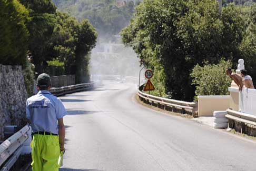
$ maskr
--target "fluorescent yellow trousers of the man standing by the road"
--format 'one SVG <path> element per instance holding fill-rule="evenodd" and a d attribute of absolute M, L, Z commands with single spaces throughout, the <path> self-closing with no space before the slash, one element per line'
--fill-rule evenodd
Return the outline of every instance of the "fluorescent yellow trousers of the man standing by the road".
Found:
<path fill-rule="evenodd" d="M 31 142 L 32 170 L 57 171 L 60 145 L 58 136 L 35 134 Z"/>

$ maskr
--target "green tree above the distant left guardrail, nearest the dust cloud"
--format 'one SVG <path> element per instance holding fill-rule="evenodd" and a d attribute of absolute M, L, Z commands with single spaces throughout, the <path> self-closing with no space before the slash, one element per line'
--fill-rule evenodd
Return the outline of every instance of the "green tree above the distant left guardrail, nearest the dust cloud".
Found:
<path fill-rule="evenodd" d="M 68 74 L 76 75 L 77 83 L 88 81 L 90 51 L 96 44 L 95 28 L 87 21 L 57 11 L 52 37 L 53 58 L 64 63 Z"/>

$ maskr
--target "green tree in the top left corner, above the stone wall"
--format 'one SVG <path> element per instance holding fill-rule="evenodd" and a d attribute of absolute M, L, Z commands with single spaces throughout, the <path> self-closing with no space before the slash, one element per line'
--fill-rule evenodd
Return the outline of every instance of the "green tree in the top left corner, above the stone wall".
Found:
<path fill-rule="evenodd" d="M 28 10 L 17 0 L 0 1 L 0 64 L 25 64 Z"/>

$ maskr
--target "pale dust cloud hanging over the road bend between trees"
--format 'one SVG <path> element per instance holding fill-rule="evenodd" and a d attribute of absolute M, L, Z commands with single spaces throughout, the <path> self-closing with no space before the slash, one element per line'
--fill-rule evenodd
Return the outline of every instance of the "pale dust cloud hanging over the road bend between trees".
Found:
<path fill-rule="evenodd" d="M 90 59 L 91 75 L 139 77 L 140 63 L 132 48 L 118 43 L 97 43 Z"/>

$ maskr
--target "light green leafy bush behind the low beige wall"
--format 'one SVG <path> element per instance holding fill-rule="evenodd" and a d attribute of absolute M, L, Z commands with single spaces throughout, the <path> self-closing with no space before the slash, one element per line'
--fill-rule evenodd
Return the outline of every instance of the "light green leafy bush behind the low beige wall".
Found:
<path fill-rule="evenodd" d="M 231 65 L 231 61 L 224 59 L 216 65 L 196 65 L 191 73 L 192 85 L 196 85 L 194 99 L 197 99 L 198 95 L 228 95 L 231 79 L 225 75 L 225 68 Z"/>

